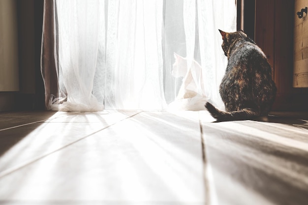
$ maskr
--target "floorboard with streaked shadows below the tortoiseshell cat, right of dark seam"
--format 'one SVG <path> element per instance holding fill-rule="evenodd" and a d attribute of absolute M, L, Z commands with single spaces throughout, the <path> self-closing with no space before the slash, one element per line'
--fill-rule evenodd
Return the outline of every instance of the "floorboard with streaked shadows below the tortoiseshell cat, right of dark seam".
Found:
<path fill-rule="evenodd" d="M 307 121 L 202 121 L 211 204 L 307 204 Z"/>

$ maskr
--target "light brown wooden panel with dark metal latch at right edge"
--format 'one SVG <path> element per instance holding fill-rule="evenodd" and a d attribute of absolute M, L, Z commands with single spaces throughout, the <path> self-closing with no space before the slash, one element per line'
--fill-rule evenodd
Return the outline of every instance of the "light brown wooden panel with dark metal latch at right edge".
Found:
<path fill-rule="evenodd" d="M 307 0 L 295 0 L 295 12 L 308 6 Z M 303 18 L 294 18 L 294 67 L 293 87 L 308 88 L 308 19 L 303 13 Z"/>

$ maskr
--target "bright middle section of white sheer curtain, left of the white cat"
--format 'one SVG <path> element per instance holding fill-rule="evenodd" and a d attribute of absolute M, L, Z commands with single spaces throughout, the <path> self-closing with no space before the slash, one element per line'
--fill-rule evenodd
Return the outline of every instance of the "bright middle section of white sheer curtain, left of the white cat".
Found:
<path fill-rule="evenodd" d="M 109 3 L 106 109 L 163 109 L 162 0 Z"/>

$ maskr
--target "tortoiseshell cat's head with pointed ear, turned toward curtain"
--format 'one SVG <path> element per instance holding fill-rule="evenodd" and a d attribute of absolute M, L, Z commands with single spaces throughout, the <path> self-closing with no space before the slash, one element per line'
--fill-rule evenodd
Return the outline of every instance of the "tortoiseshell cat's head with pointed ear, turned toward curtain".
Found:
<path fill-rule="evenodd" d="M 219 30 L 219 29 L 218 29 Z M 221 37 L 222 37 L 222 50 L 224 52 L 224 55 L 228 57 L 228 53 L 230 52 L 230 46 L 234 44 L 234 42 L 244 40 L 249 41 L 253 43 L 253 41 L 246 35 L 246 33 L 243 32 L 243 30 L 236 31 L 236 32 L 224 32 L 222 30 L 219 30 Z"/>

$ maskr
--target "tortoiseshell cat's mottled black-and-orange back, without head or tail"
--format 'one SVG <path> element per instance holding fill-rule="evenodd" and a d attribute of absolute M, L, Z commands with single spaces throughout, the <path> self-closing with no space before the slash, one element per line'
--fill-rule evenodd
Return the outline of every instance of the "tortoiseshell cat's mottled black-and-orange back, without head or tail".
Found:
<path fill-rule="evenodd" d="M 261 113 L 266 114 L 274 102 L 277 88 L 272 79 L 272 67 L 263 51 L 254 43 L 242 42 L 229 61 L 229 80 L 224 79 L 222 85 L 230 92 L 239 90 L 238 95 L 255 102 Z"/>

